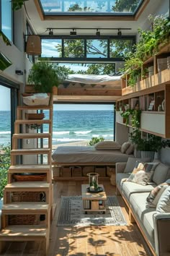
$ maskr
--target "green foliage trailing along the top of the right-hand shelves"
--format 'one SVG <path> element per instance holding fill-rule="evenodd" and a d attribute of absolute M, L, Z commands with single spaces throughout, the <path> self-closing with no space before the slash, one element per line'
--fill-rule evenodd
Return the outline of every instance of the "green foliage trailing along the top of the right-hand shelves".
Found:
<path fill-rule="evenodd" d="M 158 53 L 158 46 L 164 46 L 169 42 L 170 19 L 164 15 L 148 16 L 151 22 L 151 30 L 138 29 L 140 40 L 134 46 L 133 52 L 125 56 L 124 72 L 128 73 L 128 85 L 134 86 L 137 77 L 141 74 L 143 62 Z"/>

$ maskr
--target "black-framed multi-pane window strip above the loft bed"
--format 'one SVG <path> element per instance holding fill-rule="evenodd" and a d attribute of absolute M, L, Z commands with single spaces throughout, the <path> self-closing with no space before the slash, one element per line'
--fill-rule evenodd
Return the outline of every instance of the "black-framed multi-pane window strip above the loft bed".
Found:
<path fill-rule="evenodd" d="M 135 36 L 41 35 L 42 58 L 51 61 L 123 61 L 133 51 Z"/>

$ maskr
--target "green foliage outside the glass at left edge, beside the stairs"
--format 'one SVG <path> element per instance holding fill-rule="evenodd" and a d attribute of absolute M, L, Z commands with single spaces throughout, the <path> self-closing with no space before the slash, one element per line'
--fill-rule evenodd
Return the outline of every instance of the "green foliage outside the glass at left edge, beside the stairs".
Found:
<path fill-rule="evenodd" d="M 11 146 L 1 145 L 0 146 L 1 154 L 0 154 L 0 197 L 4 195 L 4 187 L 7 184 L 7 171 L 10 166 L 10 152 Z"/>

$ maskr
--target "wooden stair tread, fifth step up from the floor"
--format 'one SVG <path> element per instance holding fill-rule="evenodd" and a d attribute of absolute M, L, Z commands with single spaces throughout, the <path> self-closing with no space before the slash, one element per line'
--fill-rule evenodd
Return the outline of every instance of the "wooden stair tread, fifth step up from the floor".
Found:
<path fill-rule="evenodd" d="M 50 148 L 22 148 L 11 150 L 11 155 L 49 154 Z"/>

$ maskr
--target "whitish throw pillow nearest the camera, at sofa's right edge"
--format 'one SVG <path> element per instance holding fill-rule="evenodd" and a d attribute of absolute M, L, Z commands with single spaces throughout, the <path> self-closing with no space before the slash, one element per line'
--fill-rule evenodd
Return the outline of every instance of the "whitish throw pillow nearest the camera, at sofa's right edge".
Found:
<path fill-rule="evenodd" d="M 156 206 L 158 213 L 170 213 L 170 186 L 166 187 Z"/>

